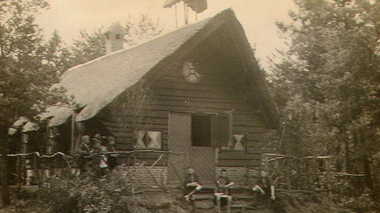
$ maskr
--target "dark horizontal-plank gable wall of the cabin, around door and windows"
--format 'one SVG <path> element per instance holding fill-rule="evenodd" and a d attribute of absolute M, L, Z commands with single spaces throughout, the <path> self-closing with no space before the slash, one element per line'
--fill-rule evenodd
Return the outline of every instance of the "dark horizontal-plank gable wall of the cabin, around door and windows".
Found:
<path fill-rule="evenodd" d="M 117 138 L 116 149 L 133 149 L 134 133 L 131 127 L 162 130 L 163 150 L 168 149 L 168 117 L 170 111 L 193 111 L 233 114 L 233 132 L 246 133 L 246 151 L 220 151 L 219 166 L 258 165 L 261 135 L 266 131 L 263 114 L 249 95 L 244 68 L 233 41 L 223 32 L 216 31 L 209 39 L 181 59 L 175 66 L 145 82 L 149 90 L 139 117 L 131 118 L 120 106 L 109 105 L 99 116 L 103 124 Z M 188 82 L 182 74 L 182 66 L 191 61 L 202 75 L 197 83 Z M 121 96 L 117 102 L 126 102 Z M 128 111 L 128 110 L 127 110 Z M 153 162 L 159 155 L 143 155 Z M 150 156 L 150 157 L 149 157 Z M 142 155 L 138 156 L 142 157 Z M 148 160 L 151 159 L 151 160 Z M 252 159 L 256 159 L 252 161 Z"/>

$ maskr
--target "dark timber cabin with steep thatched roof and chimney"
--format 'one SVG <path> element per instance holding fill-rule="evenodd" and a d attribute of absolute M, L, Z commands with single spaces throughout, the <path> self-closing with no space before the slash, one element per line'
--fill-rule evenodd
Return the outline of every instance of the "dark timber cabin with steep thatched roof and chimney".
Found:
<path fill-rule="evenodd" d="M 169 184 L 187 166 L 212 182 L 221 168 L 243 180 L 244 166 L 260 165 L 262 135 L 278 127 L 278 116 L 232 9 L 128 49 L 125 34 L 114 23 L 107 54 L 69 69 L 53 86 L 66 88 L 76 107 L 48 107 L 47 154 L 74 150 L 81 136 L 95 133 L 115 137 L 119 151 L 186 152 L 165 155 L 153 169 Z M 159 156 L 135 157 L 149 165 Z M 120 156 L 118 163 L 132 160 Z"/>

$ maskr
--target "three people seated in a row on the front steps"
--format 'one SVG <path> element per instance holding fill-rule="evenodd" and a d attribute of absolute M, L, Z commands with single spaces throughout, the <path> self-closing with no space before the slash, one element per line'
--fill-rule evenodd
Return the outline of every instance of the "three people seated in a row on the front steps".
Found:
<path fill-rule="evenodd" d="M 187 168 L 186 177 L 186 195 L 184 198 L 187 201 L 193 200 L 192 196 L 202 189 L 202 185 L 199 181 L 198 175 L 194 172 L 193 168 Z M 217 206 L 217 211 L 221 211 L 221 207 L 227 206 L 227 211 L 231 211 L 231 204 L 233 202 L 232 189 L 235 182 L 232 181 L 228 175 L 227 170 L 223 168 L 220 171 L 220 176 L 215 179 L 214 190 L 214 205 Z M 257 183 L 253 185 L 252 191 L 261 193 L 262 195 L 269 196 L 271 200 L 275 200 L 275 186 L 272 184 L 271 178 L 265 171 L 260 172 L 260 176 Z M 257 199 L 257 196 L 256 198 Z"/>

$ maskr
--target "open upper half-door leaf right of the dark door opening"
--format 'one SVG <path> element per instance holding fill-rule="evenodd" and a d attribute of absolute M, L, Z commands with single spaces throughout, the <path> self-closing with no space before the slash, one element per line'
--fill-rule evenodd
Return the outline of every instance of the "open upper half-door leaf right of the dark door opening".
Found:
<path fill-rule="evenodd" d="M 213 145 L 216 147 L 232 144 L 232 114 L 218 114 L 212 119 Z"/>

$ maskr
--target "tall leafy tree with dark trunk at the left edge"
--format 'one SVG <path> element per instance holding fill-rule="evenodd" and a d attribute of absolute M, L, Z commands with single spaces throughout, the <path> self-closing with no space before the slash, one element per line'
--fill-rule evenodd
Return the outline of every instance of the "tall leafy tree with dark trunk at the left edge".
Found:
<path fill-rule="evenodd" d="M 4 205 L 10 202 L 6 167 L 8 129 L 19 117 L 37 121 L 37 115 L 48 104 L 65 102 L 60 95 L 63 89 L 49 91 L 57 82 L 61 66 L 48 55 L 57 50 L 56 39 L 54 41 L 53 36 L 45 45 L 41 30 L 34 23 L 35 14 L 47 6 L 46 0 L 0 1 L 0 147 Z"/>

